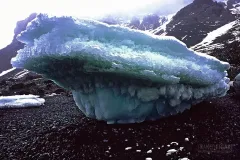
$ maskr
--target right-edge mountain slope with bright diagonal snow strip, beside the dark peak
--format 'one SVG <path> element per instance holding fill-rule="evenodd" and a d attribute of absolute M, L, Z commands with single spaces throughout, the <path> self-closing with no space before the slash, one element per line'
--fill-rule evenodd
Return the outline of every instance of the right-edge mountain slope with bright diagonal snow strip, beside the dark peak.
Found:
<path fill-rule="evenodd" d="M 240 72 L 240 0 L 222 0 L 215 3 L 221 4 L 230 12 L 234 20 L 208 32 L 201 42 L 191 48 L 229 62 L 231 68 L 228 74 L 232 79 Z"/>

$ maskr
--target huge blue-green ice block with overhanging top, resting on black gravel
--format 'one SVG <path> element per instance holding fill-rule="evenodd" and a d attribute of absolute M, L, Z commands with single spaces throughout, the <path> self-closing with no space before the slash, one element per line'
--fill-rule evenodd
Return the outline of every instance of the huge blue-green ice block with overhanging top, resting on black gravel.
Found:
<path fill-rule="evenodd" d="M 40 14 L 18 36 L 12 65 L 72 91 L 88 117 L 135 123 L 177 114 L 229 89 L 229 64 L 159 37 L 98 21 Z"/>

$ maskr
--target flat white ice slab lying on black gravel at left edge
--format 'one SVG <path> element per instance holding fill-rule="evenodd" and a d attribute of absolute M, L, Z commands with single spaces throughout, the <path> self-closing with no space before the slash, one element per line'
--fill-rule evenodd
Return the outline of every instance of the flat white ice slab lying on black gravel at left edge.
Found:
<path fill-rule="evenodd" d="M 36 95 L 0 96 L 0 109 L 38 107 L 45 103 Z"/>

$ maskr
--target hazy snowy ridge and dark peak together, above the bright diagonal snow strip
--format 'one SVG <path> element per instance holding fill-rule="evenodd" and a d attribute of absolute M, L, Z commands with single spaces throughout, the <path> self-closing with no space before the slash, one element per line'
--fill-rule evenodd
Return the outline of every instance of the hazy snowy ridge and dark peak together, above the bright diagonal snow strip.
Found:
<path fill-rule="evenodd" d="M 108 16 L 102 21 L 149 31 L 160 36 L 174 36 L 191 47 L 201 43 L 210 32 L 235 21 L 239 4 L 240 0 L 194 0 L 174 14 L 150 14 L 128 20 Z"/>

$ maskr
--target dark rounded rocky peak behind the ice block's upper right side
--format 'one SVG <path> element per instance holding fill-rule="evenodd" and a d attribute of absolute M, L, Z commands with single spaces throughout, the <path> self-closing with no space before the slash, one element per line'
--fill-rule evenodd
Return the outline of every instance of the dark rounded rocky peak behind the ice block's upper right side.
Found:
<path fill-rule="evenodd" d="M 201 42 L 207 33 L 235 20 L 236 17 L 221 3 L 195 0 L 181 9 L 167 25 L 168 36 L 174 36 L 187 46 Z"/>

